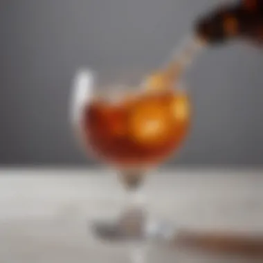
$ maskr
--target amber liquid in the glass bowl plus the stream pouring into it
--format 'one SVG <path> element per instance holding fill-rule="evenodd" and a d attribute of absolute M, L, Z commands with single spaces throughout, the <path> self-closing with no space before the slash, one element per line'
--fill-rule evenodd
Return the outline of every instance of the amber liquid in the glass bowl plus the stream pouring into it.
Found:
<path fill-rule="evenodd" d="M 93 100 L 87 105 L 84 139 L 102 161 L 118 167 L 149 167 L 179 149 L 190 128 L 190 99 L 175 87 L 203 47 L 199 38 L 186 40 L 165 66 L 145 77 L 143 93 L 116 103 Z"/>

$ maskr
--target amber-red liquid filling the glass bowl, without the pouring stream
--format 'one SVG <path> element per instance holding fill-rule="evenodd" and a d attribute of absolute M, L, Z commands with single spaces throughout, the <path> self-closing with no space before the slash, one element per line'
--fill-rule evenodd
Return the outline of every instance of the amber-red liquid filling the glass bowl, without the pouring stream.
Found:
<path fill-rule="evenodd" d="M 156 165 L 188 134 L 190 102 L 182 91 L 143 93 L 121 102 L 94 100 L 84 111 L 86 143 L 115 165 Z"/>

